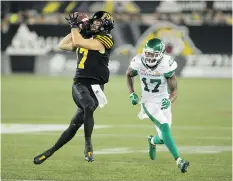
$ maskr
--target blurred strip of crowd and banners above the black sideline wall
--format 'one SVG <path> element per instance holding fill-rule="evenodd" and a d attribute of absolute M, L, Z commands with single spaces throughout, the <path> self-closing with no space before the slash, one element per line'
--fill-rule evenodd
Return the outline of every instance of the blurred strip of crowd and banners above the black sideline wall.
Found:
<path fill-rule="evenodd" d="M 231 1 L 4 1 L 1 7 L 2 26 L 27 24 L 63 24 L 71 11 L 90 16 L 99 9 L 113 14 L 116 21 L 156 20 L 187 25 L 232 25 Z"/>

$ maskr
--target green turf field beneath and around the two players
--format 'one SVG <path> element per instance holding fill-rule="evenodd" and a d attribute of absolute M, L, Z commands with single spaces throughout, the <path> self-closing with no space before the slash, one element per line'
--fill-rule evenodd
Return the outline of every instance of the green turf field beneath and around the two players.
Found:
<path fill-rule="evenodd" d="M 72 78 L 65 77 L 2 77 L 2 124 L 68 125 L 76 110 L 71 85 Z M 112 77 L 105 89 L 108 105 L 95 114 L 94 162 L 83 159 L 83 130 L 39 166 L 33 157 L 52 146 L 61 130 L 2 134 L 2 180 L 230 181 L 231 87 L 230 79 L 178 79 L 172 134 L 181 156 L 191 162 L 186 174 L 164 145 L 158 146 L 155 161 L 149 159 L 153 124 L 137 118 L 139 106 L 130 104 L 125 78 Z"/>

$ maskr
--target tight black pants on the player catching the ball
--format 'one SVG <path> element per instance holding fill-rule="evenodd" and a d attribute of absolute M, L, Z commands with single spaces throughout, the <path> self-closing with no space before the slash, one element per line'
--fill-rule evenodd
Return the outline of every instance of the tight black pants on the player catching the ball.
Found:
<path fill-rule="evenodd" d="M 83 85 L 77 82 L 73 83 L 72 97 L 75 104 L 78 106 L 77 112 L 72 118 L 69 127 L 62 133 L 61 137 L 51 148 L 52 152 L 57 151 L 70 141 L 82 124 L 84 124 L 86 149 L 92 151 L 91 135 L 94 127 L 93 113 L 98 107 L 98 100 L 92 91 L 91 85 Z"/>

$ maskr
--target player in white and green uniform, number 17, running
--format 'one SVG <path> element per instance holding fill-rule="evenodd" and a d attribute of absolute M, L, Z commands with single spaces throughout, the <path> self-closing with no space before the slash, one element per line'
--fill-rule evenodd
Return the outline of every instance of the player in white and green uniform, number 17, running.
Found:
<path fill-rule="evenodd" d="M 131 103 L 133 105 L 141 103 L 138 117 L 150 118 L 158 133 L 156 136 L 148 136 L 150 158 L 155 160 L 157 144 L 165 144 L 176 160 L 178 168 L 185 173 L 189 162 L 180 157 L 170 133 L 171 103 L 177 97 L 176 68 L 177 63 L 171 56 L 165 54 L 164 42 L 153 38 L 146 43 L 143 53 L 132 59 L 126 76 Z M 133 86 L 133 77 L 137 75 L 141 81 L 141 101 L 134 92 Z"/>

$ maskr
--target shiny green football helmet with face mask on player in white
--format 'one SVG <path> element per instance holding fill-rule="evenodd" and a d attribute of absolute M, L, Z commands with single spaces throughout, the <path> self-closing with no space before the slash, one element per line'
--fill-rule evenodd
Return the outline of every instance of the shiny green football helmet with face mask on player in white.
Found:
<path fill-rule="evenodd" d="M 143 62 L 150 68 L 160 64 L 165 53 L 165 44 L 158 38 L 150 39 L 143 48 Z"/>

